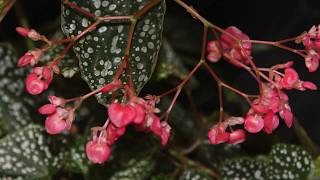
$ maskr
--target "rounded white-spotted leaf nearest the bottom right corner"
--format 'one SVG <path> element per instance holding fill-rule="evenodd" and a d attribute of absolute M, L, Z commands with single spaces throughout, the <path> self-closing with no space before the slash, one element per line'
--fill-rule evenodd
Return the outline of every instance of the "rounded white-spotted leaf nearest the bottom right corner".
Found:
<path fill-rule="evenodd" d="M 270 158 L 267 168 L 269 179 L 306 179 L 311 171 L 311 156 L 296 145 L 274 145 Z"/>

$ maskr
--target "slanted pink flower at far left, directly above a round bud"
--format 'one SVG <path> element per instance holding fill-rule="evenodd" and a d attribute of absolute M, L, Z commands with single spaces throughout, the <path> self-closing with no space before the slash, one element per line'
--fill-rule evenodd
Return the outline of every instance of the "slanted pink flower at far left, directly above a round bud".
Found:
<path fill-rule="evenodd" d="M 18 61 L 18 67 L 23 67 L 28 64 L 34 66 L 38 63 L 43 51 L 41 49 L 34 49 L 25 53 Z"/>

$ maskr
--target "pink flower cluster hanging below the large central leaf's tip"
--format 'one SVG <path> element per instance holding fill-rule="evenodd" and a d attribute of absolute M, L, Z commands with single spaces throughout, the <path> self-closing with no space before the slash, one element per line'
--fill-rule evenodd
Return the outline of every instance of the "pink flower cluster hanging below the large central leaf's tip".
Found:
<path fill-rule="evenodd" d="M 161 139 L 163 146 L 166 145 L 171 127 L 156 115 L 159 112 L 155 108 L 157 101 L 153 96 L 144 99 L 134 96 L 128 103 L 112 103 L 108 108 L 107 127 L 93 128 L 93 139 L 87 143 L 86 154 L 90 161 L 105 162 L 110 155 L 110 146 L 125 133 L 130 124 L 137 130 L 151 131 Z"/>

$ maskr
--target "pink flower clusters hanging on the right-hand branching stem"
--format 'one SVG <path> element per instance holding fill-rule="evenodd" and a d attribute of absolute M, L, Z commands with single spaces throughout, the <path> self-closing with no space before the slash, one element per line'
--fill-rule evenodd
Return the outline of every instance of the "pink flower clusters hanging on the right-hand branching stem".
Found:
<path fill-rule="evenodd" d="M 313 53 L 313 59 L 306 58 L 306 64 L 309 71 L 315 71 L 318 68 L 318 59 L 320 52 L 320 26 L 312 27 L 308 33 L 299 36 L 308 52 Z M 217 62 L 222 56 L 232 65 L 243 67 L 249 64 L 251 58 L 251 42 L 249 37 L 242 33 L 238 28 L 231 26 L 222 33 L 219 40 L 209 41 L 207 45 L 208 60 Z M 278 126 L 279 119 L 283 119 L 287 127 L 293 123 L 293 114 L 289 105 L 289 97 L 284 90 L 317 90 L 317 86 L 309 81 L 302 81 L 296 70 L 291 66 L 293 62 L 277 64 L 271 68 L 262 68 L 262 71 L 268 72 L 268 76 L 262 74 L 259 68 L 255 70 L 267 82 L 258 80 L 261 83 L 260 95 L 250 103 L 251 108 L 246 116 L 228 117 L 222 122 L 214 125 L 208 133 L 212 144 L 229 143 L 237 144 L 245 141 L 245 131 L 242 129 L 232 130 L 231 126 L 243 125 L 249 133 L 258 133 L 264 131 L 271 134 Z M 280 72 L 280 71 L 283 71 Z M 279 118 L 280 116 L 280 118 Z M 227 131 L 227 128 L 231 132 Z"/>

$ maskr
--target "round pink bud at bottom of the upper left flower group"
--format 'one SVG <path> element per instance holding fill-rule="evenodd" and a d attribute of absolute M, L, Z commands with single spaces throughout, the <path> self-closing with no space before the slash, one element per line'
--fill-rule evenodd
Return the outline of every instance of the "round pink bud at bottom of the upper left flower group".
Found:
<path fill-rule="evenodd" d="M 30 73 L 26 80 L 26 90 L 29 94 L 37 95 L 42 93 L 46 89 L 46 84 L 38 78 L 35 73 Z"/>

